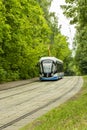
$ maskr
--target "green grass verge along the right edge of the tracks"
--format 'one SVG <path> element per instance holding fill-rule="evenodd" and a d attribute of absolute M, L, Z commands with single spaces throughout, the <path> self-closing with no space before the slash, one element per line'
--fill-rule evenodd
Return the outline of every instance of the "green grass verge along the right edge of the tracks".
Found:
<path fill-rule="evenodd" d="M 87 130 L 87 76 L 83 79 L 76 96 L 20 130 Z"/>

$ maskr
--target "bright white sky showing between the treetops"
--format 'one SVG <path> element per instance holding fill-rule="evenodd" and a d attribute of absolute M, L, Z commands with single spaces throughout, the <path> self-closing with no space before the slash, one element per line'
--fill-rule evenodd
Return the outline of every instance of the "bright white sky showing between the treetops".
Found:
<path fill-rule="evenodd" d="M 51 4 L 50 11 L 55 12 L 56 16 L 58 17 L 59 25 L 61 26 L 61 33 L 68 37 L 68 42 L 70 43 L 70 48 L 72 48 L 73 37 L 75 34 L 74 25 L 69 24 L 69 19 L 67 19 L 63 15 L 63 11 L 60 8 L 60 5 L 64 5 L 65 0 L 53 0 Z"/>

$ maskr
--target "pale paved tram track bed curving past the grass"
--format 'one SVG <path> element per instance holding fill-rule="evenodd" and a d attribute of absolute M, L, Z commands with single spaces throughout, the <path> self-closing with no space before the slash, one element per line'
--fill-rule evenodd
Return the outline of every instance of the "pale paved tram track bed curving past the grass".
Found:
<path fill-rule="evenodd" d="M 82 83 L 81 77 L 65 77 L 55 82 L 38 81 L 1 91 L 0 130 L 18 130 L 71 98 Z"/>

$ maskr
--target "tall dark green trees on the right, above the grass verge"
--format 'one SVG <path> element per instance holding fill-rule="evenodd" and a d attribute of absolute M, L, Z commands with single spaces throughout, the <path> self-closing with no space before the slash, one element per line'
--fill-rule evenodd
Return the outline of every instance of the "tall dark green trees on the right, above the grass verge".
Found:
<path fill-rule="evenodd" d="M 76 64 L 82 74 L 87 74 L 87 0 L 66 0 L 66 3 L 62 6 L 64 14 L 71 24 L 76 24 Z"/>

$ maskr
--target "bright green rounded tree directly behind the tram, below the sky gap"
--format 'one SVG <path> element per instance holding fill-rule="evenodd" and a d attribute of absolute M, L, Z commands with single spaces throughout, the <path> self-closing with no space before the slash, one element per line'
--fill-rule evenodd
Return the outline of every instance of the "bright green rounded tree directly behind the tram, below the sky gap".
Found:
<path fill-rule="evenodd" d="M 50 47 L 51 55 L 63 60 L 64 62 L 64 73 L 65 75 L 73 75 L 71 73 L 70 63 L 71 61 L 71 50 L 68 47 L 68 42 L 65 36 L 58 33 L 54 37 L 54 44 Z"/>

